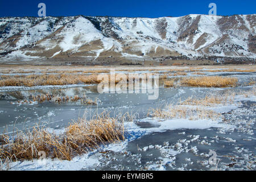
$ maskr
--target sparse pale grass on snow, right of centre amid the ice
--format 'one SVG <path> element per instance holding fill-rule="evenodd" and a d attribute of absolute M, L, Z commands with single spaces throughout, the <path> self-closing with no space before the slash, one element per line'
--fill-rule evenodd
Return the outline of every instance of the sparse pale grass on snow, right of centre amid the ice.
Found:
<path fill-rule="evenodd" d="M 156 109 L 150 109 L 148 110 L 147 115 L 159 119 L 221 119 L 222 115 L 220 113 L 216 113 L 207 107 L 217 105 L 236 105 L 236 96 L 256 96 L 256 89 L 254 87 L 250 90 L 241 92 L 227 92 L 221 96 L 210 94 L 204 98 L 189 97 L 187 100 L 180 101 L 179 104 L 176 105 L 170 104 L 163 108 L 158 107 Z"/>

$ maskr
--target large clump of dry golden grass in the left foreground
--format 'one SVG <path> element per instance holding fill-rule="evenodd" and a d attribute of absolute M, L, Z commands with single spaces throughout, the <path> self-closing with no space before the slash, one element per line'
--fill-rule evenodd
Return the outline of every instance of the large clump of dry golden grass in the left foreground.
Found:
<path fill-rule="evenodd" d="M 44 151 L 49 158 L 72 160 L 74 156 L 93 150 L 101 144 L 123 140 L 124 132 L 123 123 L 106 115 L 90 121 L 79 119 L 78 122 L 71 123 L 61 135 L 34 127 L 32 131 L 24 133 L 16 131 L 13 137 L 1 135 L 5 143 L 0 143 L 0 159 L 32 160 L 39 158 L 39 151 Z"/>

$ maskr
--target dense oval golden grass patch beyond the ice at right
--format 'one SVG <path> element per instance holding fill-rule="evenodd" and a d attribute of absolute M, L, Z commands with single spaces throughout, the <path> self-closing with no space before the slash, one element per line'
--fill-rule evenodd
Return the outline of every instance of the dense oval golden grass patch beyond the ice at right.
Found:
<path fill-rule="evenodd" d="M 237 78 L 221 77 L 221 76 L 202 76 L 202 77 L 185 77 L 181 78 L 181 84 L 187 86 L 202 87 L 234 87 L 237 85 Z"/>

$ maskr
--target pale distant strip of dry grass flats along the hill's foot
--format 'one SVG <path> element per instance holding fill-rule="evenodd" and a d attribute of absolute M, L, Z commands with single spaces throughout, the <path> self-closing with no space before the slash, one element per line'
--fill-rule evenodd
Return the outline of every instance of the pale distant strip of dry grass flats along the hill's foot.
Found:
<path fill-rule="evenodd" d="M 186 65 L 186 66 L 164 66 L 164 67 L 141 67 L 141 66 L 123 66 L 120 65 L 115 67 L 116 71 L 199 71 L 200 69 L 204 69 L 202 71 L 207 70 L 217 70 L 223 69 L 226 71 L 242 71 L 242 72 L 251 72 L 256 71 L 256 65 Z M 109 70 L 113 68 L 110 66 L 83 66 L 83 65 L 0 65 L 1 73 L 107 73 Z M 218 72 L 218 71 L 216 71 Z"/>

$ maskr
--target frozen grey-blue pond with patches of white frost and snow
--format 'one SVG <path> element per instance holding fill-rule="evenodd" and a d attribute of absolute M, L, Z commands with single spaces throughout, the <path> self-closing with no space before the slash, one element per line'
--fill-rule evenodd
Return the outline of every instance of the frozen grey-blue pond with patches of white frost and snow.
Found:
<path fill-rule="evenodd" d="M 240 100 L 240 105 L 221 112 L 229 127 L 165 128 L 160 131 L 161 122 L 148 122 L 147 113 L 151 108 L 177 104 L 193 96 L 203 98 L 212 93 L 223 95 L 230 91 L 249 90 L 243 85 L 255 73 L 217 73 L 221 76 L 238 77 L 240 86 L 235 88 L 164 88 L 159 84 L 159 97 L 148 100 L 148 94 L 118 94 L 97 92 L 97 85 L 82 85 L 68 88 L 38 88 L 24 90 L 17 88 L 0 92 L 0 133 L 11 133 L 14 129 L 28 129 L 36 123 L 51 129 L 64 129 L 79 117 L 93 118 L 96 113 L 106 111 L 111 117 L 128 112 L 134 115 L 134 130 L 129 130 L 123 148 L 104 148 L 105 152 L 94 151 L 87 156 L 97 159 L 95 163 L 81 164 L 82 170 L 209 170 L 209 169 L 252 169 L 255 170 L 255 100 Z M 36 104 L 15 104 L 18 100 L 29 100 L 38 94 L 58 96 L 80 96 L 101 102 L 98 105 L 84 105 L 80 102 L 57 104 L 43 102 Z M 159 131 L 157 130 L 159 128 Z M 155 130 L 156 129 L 156 130 Z M 150 132 L 148 132 L 150 131 Z M 114 147 L 115 148 L 115 147 Z M 218 165 L 208 163 L 209 151 L 217 153 Z M 76 160 L 76 159 L 75 159 Z M 79 159 L 77 159 L 79 162 Z M 58 165 L 61 165 L 61 163 Z M 69 165 L 69 164 L 67 164 Z M 72 169 L 72 165 L 68 169 Z M 20 163 L 14 169 L 40 169 L 33 165 L 26 168 Z M 47 169 L 47 168 L 42 168 Z M 66 169 L 66 168 L 64 168 Z M 76 168 L 73 168 L 76 169 Z"/>

